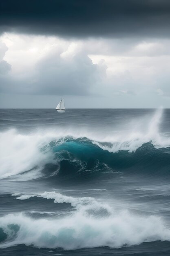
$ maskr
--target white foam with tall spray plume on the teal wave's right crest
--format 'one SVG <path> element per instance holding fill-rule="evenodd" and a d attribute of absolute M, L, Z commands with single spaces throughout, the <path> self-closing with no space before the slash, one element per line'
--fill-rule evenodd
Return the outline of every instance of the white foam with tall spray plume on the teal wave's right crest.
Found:
<path fill-rule="evenodd" d="M 159 124 L 161 123 L 163 109 L 160 108 L 148 122 L 148 128 L 143 132 L 135 124 L 131 125 L 131 131 L 126 133 L 117 133 L 115 136 L 108 136 L 100 141 L 93 140 L 103 150 L 109 152 L 118 152 L 119 150 L 128 150 L 134 152 L 143 144 L 151 142 L 155 148 L 167 148 L 170 146 L 170 137 L 161 137 L 159 134 Z M 111 145 L 103 145 L 101 142 L 110 142 Z"/>

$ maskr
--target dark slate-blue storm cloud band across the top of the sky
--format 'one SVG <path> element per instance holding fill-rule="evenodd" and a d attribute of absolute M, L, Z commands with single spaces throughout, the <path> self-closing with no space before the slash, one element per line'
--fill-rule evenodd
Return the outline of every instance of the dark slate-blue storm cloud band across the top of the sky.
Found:
<path fill-rule="evenodd" d="M 170 36 L 169 0 L 1 0 L 0 31 L 60 36 Z"/>

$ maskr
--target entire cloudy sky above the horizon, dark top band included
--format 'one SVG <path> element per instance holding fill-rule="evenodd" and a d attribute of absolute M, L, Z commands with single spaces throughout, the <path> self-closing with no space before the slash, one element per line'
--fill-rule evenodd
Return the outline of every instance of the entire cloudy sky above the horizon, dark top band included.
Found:
<path fill-rule="evenodd" d="M 170 108 L 169 0 L 1 0 L 0 108 Z"/>

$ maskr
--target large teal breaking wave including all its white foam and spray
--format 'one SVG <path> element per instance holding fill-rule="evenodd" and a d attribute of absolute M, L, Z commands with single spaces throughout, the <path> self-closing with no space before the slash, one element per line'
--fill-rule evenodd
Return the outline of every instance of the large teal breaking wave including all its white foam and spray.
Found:
<path fill-rule="evenodd" d="M 159 109 L 143 132 L 136 127 L 112 135 L 75 130 L 1 132 L 0 178 L 32 180 L 84 171 L 117 172 L 137 164 L 166 166 L 170 137 L 159 133 L 161 116 Z"/>

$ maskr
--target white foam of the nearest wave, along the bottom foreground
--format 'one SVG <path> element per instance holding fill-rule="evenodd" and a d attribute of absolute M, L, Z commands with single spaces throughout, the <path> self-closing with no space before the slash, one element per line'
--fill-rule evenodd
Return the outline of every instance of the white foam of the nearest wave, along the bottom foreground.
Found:
<path fill-rule="evenodd" d="M 20 229 L 15 233 L 17 225 Z M 23 214 L 0 218 L 7 241 L 0 248 L 25 244 L 35 247 L 78 249 L 84 247 L 121 247 L 155 240 L 170 241 L 170 229 L 161 218 L 140 217 L 121 211 L 107 218 L 93 218 L 77 212 L 60 219 L 32 219 Z"/>

